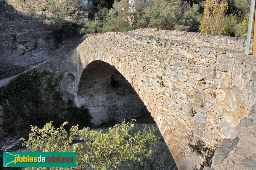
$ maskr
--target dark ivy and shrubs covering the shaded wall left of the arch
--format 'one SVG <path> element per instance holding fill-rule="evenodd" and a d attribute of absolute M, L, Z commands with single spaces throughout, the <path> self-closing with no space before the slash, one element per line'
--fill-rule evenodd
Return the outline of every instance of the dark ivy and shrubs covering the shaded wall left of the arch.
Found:
<path fill-rule="evenodd" d="M 88 109 L 73 106 L 61 109 L 61 78 L 62 74 L 30 70 L 2 86 L 0 106 L 4 110 L 2 127 L 5 133 L 11 136 L 24 135 L 29 132 L 31 124 L 40 127 L 55 120 L 54 123 L 59 126 L 64 118 L 71 124 L 88 125 L 91 120 Z"/>

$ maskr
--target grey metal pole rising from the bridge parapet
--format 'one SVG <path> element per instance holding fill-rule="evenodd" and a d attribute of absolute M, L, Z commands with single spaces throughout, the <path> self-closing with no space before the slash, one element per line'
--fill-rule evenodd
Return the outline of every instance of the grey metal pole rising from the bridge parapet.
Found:
<path fill-rule="evenodd" d="M 245 55 L 249 55 L 249 50 L 250 50 L 250 42 L 251 42 L 251 34 L 252 34 L 252 21 L 253 21 L 254 9 L 255 9 L 255 0 L 252 0 L 251 1 L 249 24 L 248 24 L 248 32 L 247 32 L 247 41 L 246 41 Z"/>

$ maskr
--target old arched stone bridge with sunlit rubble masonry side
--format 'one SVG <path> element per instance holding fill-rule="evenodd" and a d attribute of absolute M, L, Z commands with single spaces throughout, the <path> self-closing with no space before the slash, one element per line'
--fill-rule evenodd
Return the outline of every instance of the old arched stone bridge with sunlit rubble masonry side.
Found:
<path fill-rule="evenodd" d="M 256 60 L 244 55 L 244 39 L 153 28 L 85 38 L 36 69 L 63 73 L 63 101 L 89 108 L 94 124 L 108 119 L 102 103 L 115 98 L 107 86 L 118 71 L 156 121 L 179 169 L 200 169 L 211 157 L 189 146 L 201 139 L 214 149 L 232 138 L 241 119 L 255 115 Z"/>

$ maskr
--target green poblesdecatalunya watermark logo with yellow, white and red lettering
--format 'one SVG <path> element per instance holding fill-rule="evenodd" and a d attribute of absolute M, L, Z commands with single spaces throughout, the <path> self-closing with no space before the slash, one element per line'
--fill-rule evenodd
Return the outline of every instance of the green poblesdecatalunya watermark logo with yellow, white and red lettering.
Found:
<path fill-rule="evenodd" d="M 76 152 L 4 152 L 4 167 L 75 167 Z"/>

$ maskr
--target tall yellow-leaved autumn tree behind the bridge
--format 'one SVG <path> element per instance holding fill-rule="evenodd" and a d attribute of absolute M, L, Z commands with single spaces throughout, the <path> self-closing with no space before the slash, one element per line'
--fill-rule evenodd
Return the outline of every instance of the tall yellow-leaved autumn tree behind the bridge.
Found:
<path fill-rule="evenodd" d="M 200 33 L 223 35 L 227 23 L 225 20 L 225 12 L 227 9 L 227 0 L 205 0 Z"/>

